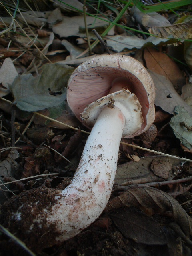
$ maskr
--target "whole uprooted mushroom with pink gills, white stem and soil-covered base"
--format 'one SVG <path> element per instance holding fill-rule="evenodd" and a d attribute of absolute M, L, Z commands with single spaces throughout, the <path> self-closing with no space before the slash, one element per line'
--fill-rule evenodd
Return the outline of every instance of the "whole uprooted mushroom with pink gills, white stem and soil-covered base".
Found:
<path fill-rule="evenodd" d="M 10 199 L 1 223 L 40 250 L 94 222 L 110 198 L 120 140 L 151 126 L 154 97 L 152 78 L 134 58 L 94 56 L 78 66 L 68 82 L 67 100 L 76 117 L 93 128 L 74 178 L 62 191 L 35 189 Z"/>

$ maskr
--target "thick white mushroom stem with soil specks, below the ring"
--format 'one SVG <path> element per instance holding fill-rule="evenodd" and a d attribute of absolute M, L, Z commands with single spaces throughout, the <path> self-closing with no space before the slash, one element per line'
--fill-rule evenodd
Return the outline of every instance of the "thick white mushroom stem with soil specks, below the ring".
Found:
<path fill-rule="evenodd" d="M 47 218 L 62 232 L 58 241 L 78 234 L 104 210 L 114 183 L 124 124 L 118 108 L 105 107 L 98 117 L 71 184 L 62 191 L 62 198 L 58 196 L 58 204 Z"/>

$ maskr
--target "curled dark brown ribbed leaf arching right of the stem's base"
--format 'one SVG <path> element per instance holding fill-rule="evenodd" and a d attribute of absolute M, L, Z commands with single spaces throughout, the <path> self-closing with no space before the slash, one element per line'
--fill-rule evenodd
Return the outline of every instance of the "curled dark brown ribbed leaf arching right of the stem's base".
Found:
<path fill-rule="evenodd" d="M 192 235 L 192 219 L 180 204 L 165 192 L 156 188 L 133 188 L 110 200 L 105 211 L 121 207 L 137 207 L 152 214 L 166 215 L 174 219 L 186 236 Z"/>

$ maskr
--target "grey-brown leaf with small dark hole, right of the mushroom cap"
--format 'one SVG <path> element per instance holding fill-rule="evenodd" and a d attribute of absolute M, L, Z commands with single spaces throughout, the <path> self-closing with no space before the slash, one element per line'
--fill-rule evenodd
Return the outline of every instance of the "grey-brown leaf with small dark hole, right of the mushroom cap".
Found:
<path fill-rule="evenodd" d="M 176 106 L 182 106 L 185 108 L 188 114 L 192 116 L 192 109 L 176 92 L 170 80 L 168 80 L 165 76 L 156 74 L 150 70 L 148 70 L 148 72 L 152 76 L 156 88 L 157 96 L 155 97 L 155 105 L 160 106 L 162 110 L 170 114 L 174 113 Z"/>

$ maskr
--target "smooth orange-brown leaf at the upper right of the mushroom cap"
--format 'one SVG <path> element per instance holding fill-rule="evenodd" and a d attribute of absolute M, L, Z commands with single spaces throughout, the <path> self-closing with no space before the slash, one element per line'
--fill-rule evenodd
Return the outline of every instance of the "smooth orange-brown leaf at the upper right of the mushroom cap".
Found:
<path fill-rule="evenodd" d="M 183 72 L 170 57 L 164 52 L 159 52 L 154 48 L 146 48 L 144 50 L 144 59 L 148 69 L 165 76 L 172 82 L 176 90 L 181 90 L 186 82 L 185 77 Z"/>

